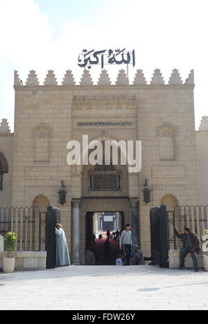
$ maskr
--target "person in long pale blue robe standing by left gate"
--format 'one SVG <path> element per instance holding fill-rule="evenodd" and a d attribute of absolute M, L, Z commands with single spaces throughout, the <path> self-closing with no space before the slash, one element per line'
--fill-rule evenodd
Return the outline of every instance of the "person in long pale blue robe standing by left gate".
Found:
<path fill-rule="evenodd" d="M 67 246 L 67 239 L 61 224 L 56 224 L 55 228 L 56 238 L 56 266 L 67 267 L 71 264 L 69 258 L 69 249 Z"/>

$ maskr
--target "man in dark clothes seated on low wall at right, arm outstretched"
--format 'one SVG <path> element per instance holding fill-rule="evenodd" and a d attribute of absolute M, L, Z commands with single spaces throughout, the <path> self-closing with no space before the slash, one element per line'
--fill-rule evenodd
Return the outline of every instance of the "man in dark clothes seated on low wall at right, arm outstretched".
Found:
<path fill-rule="evenodd" d="M 197 235 L 192 233 L 189 227 L 184 227 L 184 233 L 182 234 L 179 234 L 177 232 L 177 228 L 175 227 L 175 235 L 183 242 L 183 247 L 180 250 L 179 269 L 184 268 L 185 258 L 189 253 L 191 253 L 193 266 L 195 268 L 195 271 L 198 272 L 198 259 L 196 257 L 196 253 L 200 252 L 200 242 Z"/>

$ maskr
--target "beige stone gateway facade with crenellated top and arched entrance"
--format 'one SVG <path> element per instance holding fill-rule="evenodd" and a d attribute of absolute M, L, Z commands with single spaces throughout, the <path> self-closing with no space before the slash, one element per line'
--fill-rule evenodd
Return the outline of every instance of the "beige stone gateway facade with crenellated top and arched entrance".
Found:
<path fill-rule="evenodd" d="M 26 84 L 15 71 L 14 87 L 15 133 L 10 133 L 6 120 L 0 127 L 0 206 L 60 208 L 73 264 L 84 264 L 87 235 L 95 222 L 103 228 L 99 216 L 103 213 L 112 215 L 114 226 L 133 222 L 141 250 L 150 255 L 150 208 L 164 203 L 173 210 L 178 204 L 206 203 L 200 200 L 205 198 L 200 190 L 208 188 L 204 150 L 208 144 L 203 144 L 208 143 L 208 118 L 202 119 L 196 132 L 193 71 L 183 83 L 175 69 L 165 84 L 157 69 L 147 84 L 138 70 L 130 84 L 121 70 L 112 84 L 103 70 L 98 84 L 93 84 L 85 70 L 79 85 L 71 71 L 64 75 L 62 85 L 53 71 L 43 85 L 35 71 L 29 73 Z M 83 135 L 101 143 L 141 141 L 141 171 L 130 173 L 120 162 L 114 168 L 69 166 L 67 143 L 81 143 Z M 63 206 L 58 202 L 62 179 L 67 191 Z M 142 192 L 145 179 L 151 190 L 149 204 Z"/>

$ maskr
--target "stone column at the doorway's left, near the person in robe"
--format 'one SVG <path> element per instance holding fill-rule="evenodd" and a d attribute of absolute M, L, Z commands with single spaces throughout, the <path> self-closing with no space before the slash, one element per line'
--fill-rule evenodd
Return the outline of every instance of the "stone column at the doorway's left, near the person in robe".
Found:
<path fill-rule="evenodd" d="M 80 204 L 81 199 L 73 199 L 72 204 L 72 222 L 73 222 L 73 232 L 72 232 L 72 255 L 73 264 L 80 264 Z"/>

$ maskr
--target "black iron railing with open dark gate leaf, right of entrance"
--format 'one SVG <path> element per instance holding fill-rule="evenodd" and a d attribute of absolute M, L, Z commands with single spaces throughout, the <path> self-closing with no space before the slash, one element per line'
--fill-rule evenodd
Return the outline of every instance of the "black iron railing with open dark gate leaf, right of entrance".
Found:
<path fill-rule="evenodd" d="M 176 206 L 166 211 L 163 204 L 160 208 L 150 210 L 151 253 L 153 263 L 168 267 L 168 251 L 180 250 L 182 242 L 177 240 L 174 228 L 182 233 L 185 226 L 196 233 L 202 246 L 202 235 L 208 229 L 208 206 Z"/>

